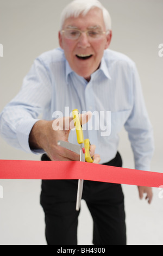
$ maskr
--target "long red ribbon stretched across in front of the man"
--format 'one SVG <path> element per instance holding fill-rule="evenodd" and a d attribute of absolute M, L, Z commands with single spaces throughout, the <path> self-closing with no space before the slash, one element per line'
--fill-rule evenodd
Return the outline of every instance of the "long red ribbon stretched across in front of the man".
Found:
<path fill-rule="evenodd" d="M 0 160 L 0 179 L 83 179 L 146 187 L 163 185 L 163 173 L 68 161 Z"/>

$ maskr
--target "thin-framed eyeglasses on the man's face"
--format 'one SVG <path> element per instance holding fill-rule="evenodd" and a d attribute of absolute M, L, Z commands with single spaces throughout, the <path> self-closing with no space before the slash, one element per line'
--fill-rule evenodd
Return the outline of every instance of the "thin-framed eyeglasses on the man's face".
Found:
<path fill-rule="evenodd" d="M 98 39 L 107 32 L 103 32 L 100 29 L 89 29 L 87 31 L 80 31 L 79 29 L 67 28 L 65 30 L 62 30 L 61 33 L 64 33 L 67 39 L 77 40 L 82 33 L 86 33 L 87 36 L 91 39 Z"/>

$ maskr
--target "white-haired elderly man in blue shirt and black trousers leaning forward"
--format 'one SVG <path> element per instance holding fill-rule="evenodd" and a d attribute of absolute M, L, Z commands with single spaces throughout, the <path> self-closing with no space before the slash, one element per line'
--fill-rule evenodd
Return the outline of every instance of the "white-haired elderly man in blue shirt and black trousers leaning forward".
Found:
<path fill-rule="evenodd" d="M 84 129 L 84 137 L 96 145 L 97 154 L 95 146 L 90 149 L 94 163 L 122 167 L 117 148 L 118 132 L 124 126 L 135 168 L 149 170 L 153 133 L 139 75 L 132 60 L 108 49 L 111 35 L 110 15 L 99 1 L 75 0 L 68 4 L 61 15 L 60 48 L 35 60 L 20 93 L 1 113 L 1 135 L 16 148 L 43 153 L 42 161 L 79 161 L 77 154 L 57 144 L 59 140 L 76 143 L 76 133 L 69 125 L 65 129 L 64 117 L 63 129 L 54 129 L 55 113 L 65 113 L 65 107 L 70 111 L 78 108 L 80 113 L 110 111 L 111 123 L 104 115 L 106 125 L 110 125 L 109 135 L 102 136 L 101 130 L 93 127 Z M 83 124 L 87 117 L 91 118 L 90 112 L 82 115 Z M 42 181 L 48 245 L 77 245 L 77 182 Z M 152 189 L 139 187 L 140 198 L 143 193 L 151 203 Z M 85 181 L 83 199 L 93 218 L 93 244 L 126 245 L 121 185 Z"/>

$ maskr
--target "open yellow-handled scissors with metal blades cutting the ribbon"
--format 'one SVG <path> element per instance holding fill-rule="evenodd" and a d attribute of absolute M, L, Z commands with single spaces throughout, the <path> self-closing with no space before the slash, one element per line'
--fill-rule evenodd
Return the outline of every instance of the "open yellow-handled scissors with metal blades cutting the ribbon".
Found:
<path fill-rule="evenodd" d="M 77 154 L 80 155 L 80 162 L 89 162 L 92 163 L 93 159 L 90 156 L 90 141 L 89 139 L 84 140 L 82 125 L 80 123 L 79 118 L 79 111 L 78 109 L 74 109 L 72 111 L 72 117 L 74 121 L 74 126 L 76 127 L 77 133 L 77 141 L 79 145 L 72 144 L 70 142 L 59 141 L 58 145 L 69 149 Z M 78 192 L 77 192 L 77 203 L 76 203 L 76 210 L 79 211 L 80 209 L 80 202 L 82 200 L 82 193 L 83 193 L 83 183 L 84 180 L 78 180 Z"/>

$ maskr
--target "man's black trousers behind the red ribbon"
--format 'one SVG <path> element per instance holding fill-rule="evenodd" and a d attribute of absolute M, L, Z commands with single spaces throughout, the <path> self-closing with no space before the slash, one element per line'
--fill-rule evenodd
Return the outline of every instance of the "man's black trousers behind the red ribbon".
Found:
<path fill-rule="evenodd" d="M 47 155 L 41 160 L 50 161 Z M 122 167 L 120 154 L 105 165 Z M 78 180 L 42 180 L 41 205 L 48 245 L 77 245 L 77 188 Z M 126 245 L 121 185 L 85 180 L 82 199 L 93 219 L 93 245 Z"/>

